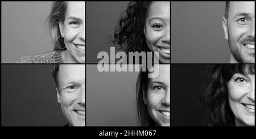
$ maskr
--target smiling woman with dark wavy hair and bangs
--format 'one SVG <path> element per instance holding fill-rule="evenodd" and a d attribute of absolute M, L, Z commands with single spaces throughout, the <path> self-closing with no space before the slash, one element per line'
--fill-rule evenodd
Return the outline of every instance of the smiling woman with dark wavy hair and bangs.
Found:
<path fill-rule="evenodd" d="M 254 126 L 254 64 L 220 64 L 205 97 L 208 126 Z"/>

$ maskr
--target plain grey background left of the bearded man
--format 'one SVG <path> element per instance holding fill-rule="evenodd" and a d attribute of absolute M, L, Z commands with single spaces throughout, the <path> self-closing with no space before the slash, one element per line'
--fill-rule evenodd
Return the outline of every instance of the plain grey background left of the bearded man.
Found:
<path fill-rule="evenodd" d="M 229 63 L 225 2 L 171 2 L 171 62 Z"/>

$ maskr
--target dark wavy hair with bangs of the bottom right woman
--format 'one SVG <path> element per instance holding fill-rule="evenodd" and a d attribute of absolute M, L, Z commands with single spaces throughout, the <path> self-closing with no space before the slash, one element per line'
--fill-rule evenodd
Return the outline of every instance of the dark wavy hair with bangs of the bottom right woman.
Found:
<path fill-rule="evenodd" d="M 208 110 L 207 126 L 236 126 L 229 106 L 227 83 L 236 73 L 254 74 L 254 64 L 218 64 L 212 70 L 212 82 L 204 104 Z"/>

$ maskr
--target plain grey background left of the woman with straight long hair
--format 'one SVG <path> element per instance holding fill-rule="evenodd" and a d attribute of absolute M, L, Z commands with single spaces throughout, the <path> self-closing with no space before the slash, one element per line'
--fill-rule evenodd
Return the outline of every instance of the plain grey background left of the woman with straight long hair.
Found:
<path fill-rule="evenodd" d="M 86 65 L 86 126 L 137 126 L 139 72 L 99 72 Z"/>

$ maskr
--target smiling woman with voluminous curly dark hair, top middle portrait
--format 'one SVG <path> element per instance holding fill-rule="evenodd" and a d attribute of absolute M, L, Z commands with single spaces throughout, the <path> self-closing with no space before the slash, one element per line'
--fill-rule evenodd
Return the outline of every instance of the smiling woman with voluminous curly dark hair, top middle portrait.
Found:
<path fill-rule="evenodd" d="M 113 43 L 127 54 L 159 52 L 160 63 L 170 63 L 170 2 L 130 2 L 118 20 Z"/>

